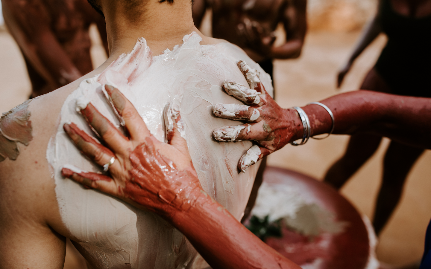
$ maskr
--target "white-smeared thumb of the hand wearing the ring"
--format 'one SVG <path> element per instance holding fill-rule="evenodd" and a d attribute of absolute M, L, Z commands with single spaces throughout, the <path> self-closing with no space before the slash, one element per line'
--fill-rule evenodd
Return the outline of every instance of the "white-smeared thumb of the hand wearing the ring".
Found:
<path fill-rule="evenodd" d="M 163 110 L 163 117 L 165 121 L 166 142 L 173 145 L 180 152 L 188 155 L 184 121 L 181 119 L 179 105 L 169 102 Z"/>

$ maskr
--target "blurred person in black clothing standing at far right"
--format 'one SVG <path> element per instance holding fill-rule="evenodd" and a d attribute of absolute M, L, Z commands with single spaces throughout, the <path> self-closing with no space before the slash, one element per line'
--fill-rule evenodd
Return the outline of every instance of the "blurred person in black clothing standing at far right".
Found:
<path fill-rule="evenodd" d="M 365 29 L 347 64 L 338 74 L 340 87 L 355 59 L 381 33 L 387 44 L 365 77 L 363 90 L 405 96 L 431 97 L 431 0 L 379 0 L 378 12 Z M 382 137 L 357 133 L 351 136 L 344 156 L 327 172 L 325 181 L 340 189 L 374 154 Z M 424 152 L 391 141 L 384 157 L 383 180 L 374 213 L 379 234 L 397 206 L 406 177 Z"/>

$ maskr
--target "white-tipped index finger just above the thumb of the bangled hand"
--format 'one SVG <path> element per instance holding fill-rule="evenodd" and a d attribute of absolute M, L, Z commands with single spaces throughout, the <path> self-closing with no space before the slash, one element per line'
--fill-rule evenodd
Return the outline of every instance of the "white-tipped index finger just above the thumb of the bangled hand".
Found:
<path fill-rule="evenodd" d="M 264 121 L 258 123 L 242 124 L 237 126 L 223 126 L 214 130 L 215 140 L 221 142 L 234 142 L 242 140 L 263 141 L 272 139 L 272 130 L 268 130 Z"/>

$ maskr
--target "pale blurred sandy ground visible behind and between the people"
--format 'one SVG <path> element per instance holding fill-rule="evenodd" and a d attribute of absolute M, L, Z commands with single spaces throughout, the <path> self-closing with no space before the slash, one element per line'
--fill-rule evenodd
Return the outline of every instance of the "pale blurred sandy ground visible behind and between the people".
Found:
<path fill-rule="evenodd" d="M 282 107 L 301 106 L 338 93 L 335 89 L 337 68 L 347 59 L 358 33 L 340 34 L 312 32 L 306 38 L 303 54 L 296 60 L 275 62 L 277 102 Z M 359 87 L 369 68 L 374 65 L 385 37 L 379 37 L 358 59 L 347 76 L 342 92 Z M 92 50 L 94 65 L 104 61 L 100 44 Z M 5 112 L 24 102 L 30 83 L 24 61 L 16 43 L 7 32 L 0 31 L 0 111 Z M 328 167 L 339 158 L 348 136 L 331 136 L 312 140 L 303 146 L 287 145 L 269 157 L 269 164 L 322 179 Z M 356 208 L 371 217 L 381 177 L 381 161 L 388 141 L 378 153 L 342 189 Z M 381 235 L 378 258 L 387 263 L 406 264 L 420 259 L 425 229 L 431 217 L 431 153 L 420 158 L 407 179 L 400 206 Z"/>

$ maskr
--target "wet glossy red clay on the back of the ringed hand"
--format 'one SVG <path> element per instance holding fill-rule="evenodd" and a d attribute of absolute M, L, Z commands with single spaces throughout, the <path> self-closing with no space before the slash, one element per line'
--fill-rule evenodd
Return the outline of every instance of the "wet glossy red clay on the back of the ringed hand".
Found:
<path fill-rule="evenodd" d="M 138 204 L 151 205 L 150 208 L 159 214 L 172 206 L 187 211 L 200 195 L 201 186 L 196 175 L 189 170 L 178 170 L 154 148 L 151 138 L 134 149 L 130 161 L 129 173 L 133 180 L 126 182 L 123 192 Z"/>

